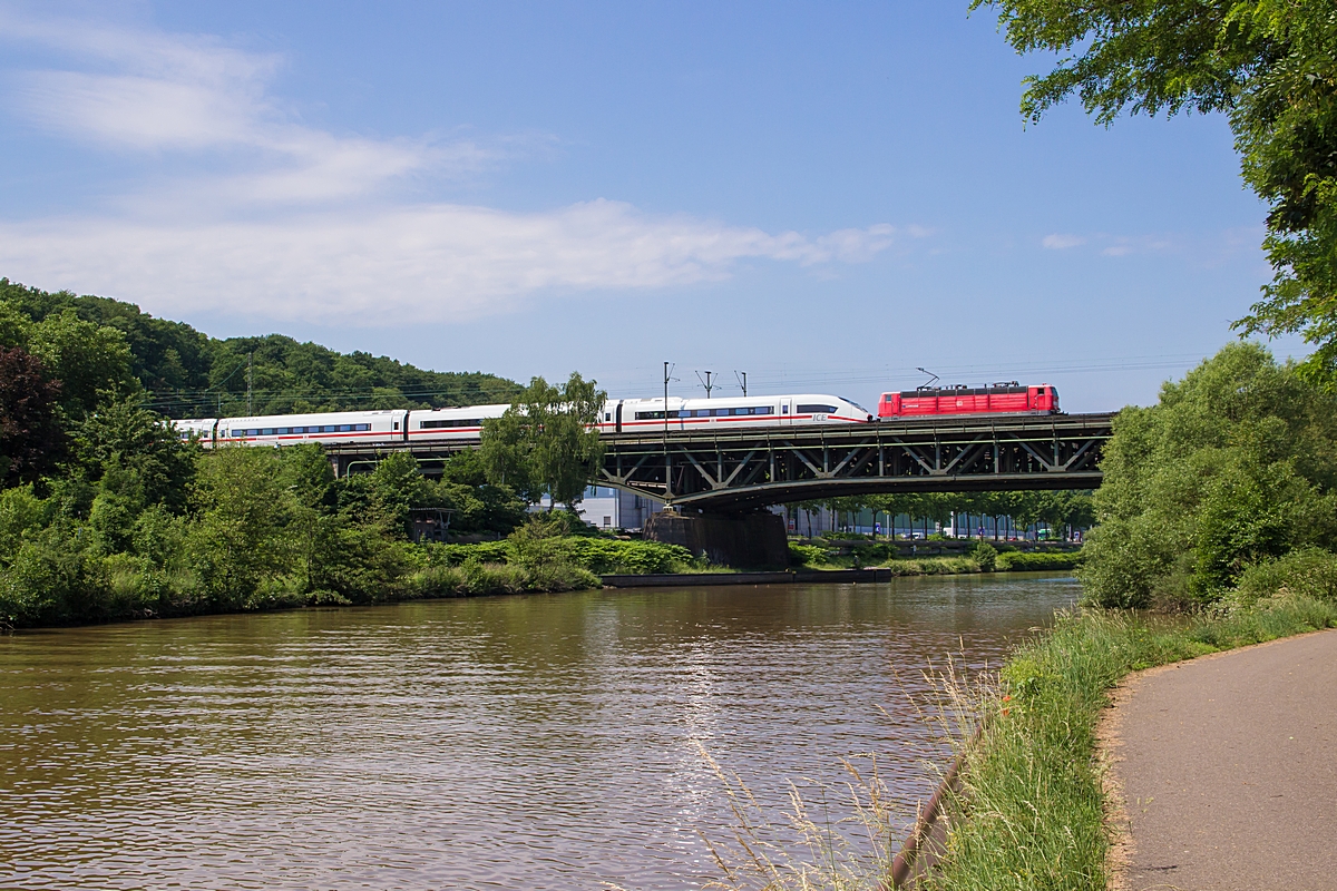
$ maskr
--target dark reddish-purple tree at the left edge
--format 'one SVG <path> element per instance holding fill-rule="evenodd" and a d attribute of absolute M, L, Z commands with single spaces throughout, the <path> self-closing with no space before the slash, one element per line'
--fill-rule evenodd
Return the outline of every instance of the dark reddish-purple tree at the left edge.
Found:
<path fill-rule="evenodd" d="M 64 457 L 59 398 L 60 383 L 45 378 L 37 357 L 0 346 L 0 486 L 31 482 Z"/>

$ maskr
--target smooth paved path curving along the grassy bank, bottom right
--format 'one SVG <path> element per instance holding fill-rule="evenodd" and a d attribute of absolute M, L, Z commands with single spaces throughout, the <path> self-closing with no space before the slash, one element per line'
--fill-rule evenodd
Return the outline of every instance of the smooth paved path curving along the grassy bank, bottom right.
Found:
<path fill-rule="evenodd" d="M 1337 631 L 1146 672 L 1119 700 L 1127 891 L 1337 888 Z"/>

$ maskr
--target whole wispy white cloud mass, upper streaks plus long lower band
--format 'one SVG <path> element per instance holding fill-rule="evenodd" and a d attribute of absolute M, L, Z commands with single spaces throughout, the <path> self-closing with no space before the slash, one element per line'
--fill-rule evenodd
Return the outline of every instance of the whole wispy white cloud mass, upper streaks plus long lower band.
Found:
<path fill-rule="evenodd" d="M 118 211 L 0 222 L 0 269 L 160 313 L 467 318 L 539 295 L 718 281 L 745 260 L 866 262 L 927 235 L 773 234 L 612 200 L 536 212 L 396 202 L 397 180 L 476 174 L 505 152 L 305 126 L 269 92 L 281 57 L 209 36 L 0 11 L 0 40 L 67 63 L 15 81 L 9 107 L 33 126 L 103 151 L 198 158 L 194 175 L 151 180 Z"/>

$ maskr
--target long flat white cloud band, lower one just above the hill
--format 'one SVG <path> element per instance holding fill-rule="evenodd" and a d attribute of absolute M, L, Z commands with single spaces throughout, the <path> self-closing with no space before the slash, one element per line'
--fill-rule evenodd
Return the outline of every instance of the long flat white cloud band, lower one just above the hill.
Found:
<path fill-rule="evenodd" d="M 156 313 L 223 311 L 365 325 L 511 310 L 527 295 L 644 290 L 729 277 L 741 260 L 858 260 L 889 226 L 809 239 L 596 200 L 511 214 L 432 204 L 197 226 L 51 220 L 0 226 L 11 278 L 132 298 Z"/>

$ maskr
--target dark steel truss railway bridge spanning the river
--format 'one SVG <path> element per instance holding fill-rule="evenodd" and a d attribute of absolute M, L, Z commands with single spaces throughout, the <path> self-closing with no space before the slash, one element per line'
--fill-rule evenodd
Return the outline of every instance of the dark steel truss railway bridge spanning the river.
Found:
<path fill-rule="evenodd" d="M 894 492 L 1094 489 L 1112 418 L 940 417 L 606 434 L 594 482 L 706 512 Z M 405 448 L 431 462 L 471 446 Z M 377 454 L 341 446 L 329 453 L 341 473 Z"/>

